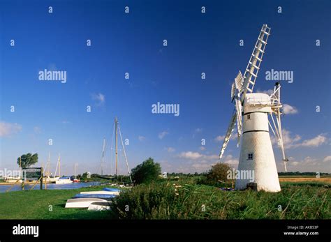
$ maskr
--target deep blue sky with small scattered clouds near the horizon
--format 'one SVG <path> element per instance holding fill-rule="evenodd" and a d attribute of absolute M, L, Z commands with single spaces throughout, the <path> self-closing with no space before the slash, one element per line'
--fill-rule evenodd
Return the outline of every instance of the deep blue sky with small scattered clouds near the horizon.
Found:
<path fill-rule="evenodd" d="M 273 88 L 267 70 L 293 71 L 293 83 L 281 82 L 282 101 L 290 105 L 282 119 L 288 168 L 331 172 L 330 7 L 330 1 L 0 1 L 0 168 L 17 168 L 16 158 L 28 152 L 45 164 L 50 152 L 53 172 L 58 153 L 64 174 L 73 174 L 75 163 L 78 173 L 100 172 L 105 137 L 106 173 L 113 173 L 117 116 L 131 167 L 152 157 L 165 172 L 209 169 L 233 111 L 230 85 L 268 24 L 272 35 L 255 91 Z M 67 82 L 38 80 L 44 69 L 66 71 Z M 180 115 L 152 114 L 157 102 L 179 104 Z M 236 166 L 239 151 L 232 140 L 224 161 Z M 122 156 L 120 164 L 125 173 Z"/>

